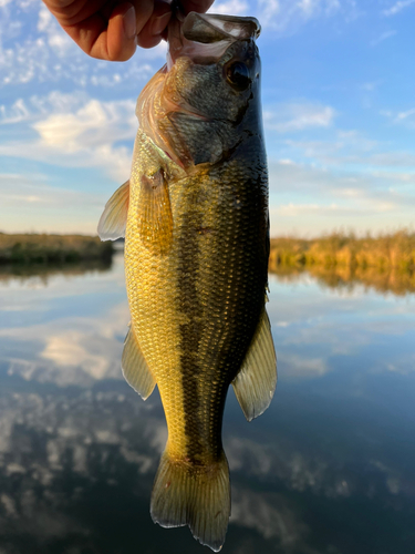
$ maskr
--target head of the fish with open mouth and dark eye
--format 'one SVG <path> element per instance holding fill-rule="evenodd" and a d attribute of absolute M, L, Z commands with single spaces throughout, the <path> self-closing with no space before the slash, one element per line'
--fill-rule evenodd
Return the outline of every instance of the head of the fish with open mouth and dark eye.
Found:
<path fill-rule="evenodd" d="M 260 58 L 255 18 L 173 18 L 167 63 L 137 102 L 139 125 L 184 168 L 229 158 L 261 134 Z"/>

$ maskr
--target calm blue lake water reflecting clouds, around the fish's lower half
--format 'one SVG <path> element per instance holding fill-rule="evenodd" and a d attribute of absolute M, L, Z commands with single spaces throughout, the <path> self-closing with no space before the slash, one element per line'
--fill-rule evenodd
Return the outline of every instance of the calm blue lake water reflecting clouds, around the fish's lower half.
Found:
<path fill-rule="evenodd" d="M 279 382 L 251 423 L 229 393 L 222 552 L 414 554 L 415 295 L 270 288 Z M 166 427 L 122 378 L 127 322 L 121 254 L 0 276 L 0 554 L 211 552 L 151 520 Z"/>

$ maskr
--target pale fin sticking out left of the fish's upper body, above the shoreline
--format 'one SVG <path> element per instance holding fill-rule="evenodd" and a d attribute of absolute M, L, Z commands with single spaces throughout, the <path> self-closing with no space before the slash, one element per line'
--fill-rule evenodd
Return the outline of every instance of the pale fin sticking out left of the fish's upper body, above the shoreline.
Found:
<path fill-rule="evenodd" d="M 101 240 L 116 240 L 125 236 L 129 203 L 129 181 L 111 196 L 98 223 Z"/>

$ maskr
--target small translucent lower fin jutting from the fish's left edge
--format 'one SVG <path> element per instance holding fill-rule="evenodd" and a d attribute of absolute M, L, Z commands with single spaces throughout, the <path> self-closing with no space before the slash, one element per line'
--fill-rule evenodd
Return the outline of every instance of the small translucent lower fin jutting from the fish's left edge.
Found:
<path fill-rule="evenodd" d="M 132 327 L 125 337 L 121 367 L 127 383 L 138 392 L 143 400 L 147 400 L 156 386 L 156 380 L 144 359 Z"/>

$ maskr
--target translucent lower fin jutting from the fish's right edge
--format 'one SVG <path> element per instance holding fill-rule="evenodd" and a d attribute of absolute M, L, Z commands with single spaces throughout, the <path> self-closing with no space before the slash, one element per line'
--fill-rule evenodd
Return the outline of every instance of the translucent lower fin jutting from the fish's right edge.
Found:
<path fill-rule="evenodd" d="M 248 421 L 269 407 L 277 384 L 277 357 L 266 308 L 239 373 L 232 381 L 235 394 Z"/>

